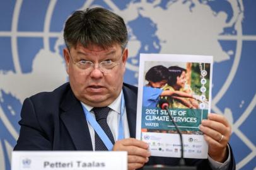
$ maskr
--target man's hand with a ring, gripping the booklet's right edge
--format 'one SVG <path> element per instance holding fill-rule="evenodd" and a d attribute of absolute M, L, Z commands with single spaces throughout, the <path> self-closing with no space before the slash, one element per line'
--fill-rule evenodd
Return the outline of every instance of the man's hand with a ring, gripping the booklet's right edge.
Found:
<path fill-rule="evenodd" d="M 222 115 L 211 113 L 207 120 L 202 120 L 200 130 L 209 145 L 208 154 L 215 161 L 224 162 L 228 157 L 228 141 L 231 135 L 231 126 Z"/>

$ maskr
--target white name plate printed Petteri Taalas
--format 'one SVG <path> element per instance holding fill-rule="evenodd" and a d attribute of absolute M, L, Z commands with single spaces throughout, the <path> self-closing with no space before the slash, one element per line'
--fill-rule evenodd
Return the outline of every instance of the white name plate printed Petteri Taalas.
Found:
<path fill-rule="evenodd" d="M 127 152 L 13 151 L 12 170 L 125 169 Z"/>

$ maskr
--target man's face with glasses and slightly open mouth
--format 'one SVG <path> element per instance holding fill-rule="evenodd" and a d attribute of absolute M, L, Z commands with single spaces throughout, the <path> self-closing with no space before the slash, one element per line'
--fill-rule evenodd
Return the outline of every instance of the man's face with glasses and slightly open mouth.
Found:
<path fill-rule="evenodd" d="M 76 48 L 71 47 L 70 52 L 65 48 L 67 74 L 76 98 L 93 107 L 110 105 L 122 90 L 127 56 L 128 50 L 125 48 L 122 52 L 122 48 L 117 44 L 103 49 L 96 45 L 84 48 L 78 43 Z M 102 72 L 97 64 L 110 60 L 117 65 L 108 70 L 107 73 Z M 79 68 L 78 62 L 84 63 L 84 61 L 90 61 L 96 65 L 91 71 Z"/>

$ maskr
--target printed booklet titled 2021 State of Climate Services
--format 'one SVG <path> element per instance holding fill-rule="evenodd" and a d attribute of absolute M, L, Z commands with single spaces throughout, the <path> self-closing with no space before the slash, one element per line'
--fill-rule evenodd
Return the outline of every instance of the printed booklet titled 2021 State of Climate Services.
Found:
<path fill-rule="evenodd" d="M 208 145 L 199 130 L 211 111 L 212 56 L 141 54 L 136 139 L 151 156 L 180 157 L 181 144 L 164 103 L 183 139 L 183 156 L 206 159 Z"/>

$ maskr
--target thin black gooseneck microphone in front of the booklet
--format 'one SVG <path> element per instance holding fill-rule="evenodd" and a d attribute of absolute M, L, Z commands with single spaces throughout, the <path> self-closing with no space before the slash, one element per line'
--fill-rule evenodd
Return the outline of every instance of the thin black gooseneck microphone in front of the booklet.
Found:
<path fill-rule="evenodd" d="M 168 112 L 168 115 L 170 116 L 173 125 L 175 126 L 178 135 L 180 136 L 180 144 L 181 144 L 181 157 L 180 157 L 180 162 L 178 166 L 164 166 L 164 165 L 155 165 L 155 166 L 144 166 L 144 170 L 156 170 L 156 169 L 161 169 L 161 170 L 196 170 L 196 166 L 185 166 L 185 160 L 183 157 L 183 140 L 182 140 L 182 133 L 180 132 L 180 129 L 177 126 L 177 123 L 173 121 L 172 114 L 170 113 L 168 107 L 169 103 L 166 99 L 160 99 L 159 101 L 159 106 L 162 110 L 166 110 Z"/>

